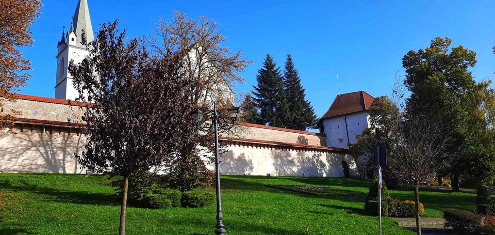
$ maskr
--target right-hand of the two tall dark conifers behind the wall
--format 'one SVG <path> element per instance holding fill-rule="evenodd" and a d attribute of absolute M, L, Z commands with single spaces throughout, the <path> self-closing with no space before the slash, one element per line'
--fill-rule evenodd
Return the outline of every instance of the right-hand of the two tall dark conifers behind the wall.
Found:
<path fill-rule="evenodd" d="M 289 101 L 286 128 L 302 131 L 307 128 L 314 128 L 318 122 L 316 114 L 311 102 L 305 98 L 305 89 L 301 85 L 299 72 L 294 67 L 291 53 L 287 53 L 287 61 L 285 62 L 284 85 L 285 95 Z"/>

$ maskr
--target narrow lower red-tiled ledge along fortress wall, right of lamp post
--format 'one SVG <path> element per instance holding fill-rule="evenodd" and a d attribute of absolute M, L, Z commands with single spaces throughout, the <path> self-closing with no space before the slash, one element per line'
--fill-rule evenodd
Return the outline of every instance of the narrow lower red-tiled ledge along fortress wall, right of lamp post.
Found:
<path fill-rule="evenodd" d="M 307 145 L 300 143 L 286 143 L 286 142 L 276 142 L 276 141 L 261 141 L 261 140 L 253 140 L 253 139 L 243 139 L 243 138 L 233 138 L 233 137 L 220 137 L 220 141 L 227 141 L 229 143 L 240 143 L 246 145 L 269 145 L 269 146 L 281 146 L 281 147 L 294 147 L 294 148 L 304 148 L 311 150 L 323 150 L 323 151 L 344 151 L 349 152 L 350 150 L 347 148 L 336 148 L 336 147 L 327 147 L 327 146 L 319 146 L 319 145 Z"/>

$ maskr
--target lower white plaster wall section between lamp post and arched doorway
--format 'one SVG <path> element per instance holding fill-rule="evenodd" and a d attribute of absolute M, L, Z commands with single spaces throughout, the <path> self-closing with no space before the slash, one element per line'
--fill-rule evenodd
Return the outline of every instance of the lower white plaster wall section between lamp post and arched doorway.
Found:
<path fill-rule="evenodd" d="M 347 162 L 350 177 L 358 177 L 359 173 L 355 160 L 343 152 L 230 145 L 221 159 L 223 175 L 344 177 L 342 161 Z M 207 168 L 214 170 L 214 165 Z"/>

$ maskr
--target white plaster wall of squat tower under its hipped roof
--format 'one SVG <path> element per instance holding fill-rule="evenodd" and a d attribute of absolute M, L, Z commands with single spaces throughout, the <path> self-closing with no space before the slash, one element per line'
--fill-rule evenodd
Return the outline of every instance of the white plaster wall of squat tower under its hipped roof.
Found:
<path fill-rule="evenodd" d="M 323 120 L 323 128 L 327 135 L 327 145 L 329 147 L 348 148 L 347 144 L 349 142 L 355 143 L 357 141 L 356 135 L 361 135 L 367 127 L 369 127 L 369 121 L 365 111 Z M 342 142 L 340 139 L 342 139 Z"/>

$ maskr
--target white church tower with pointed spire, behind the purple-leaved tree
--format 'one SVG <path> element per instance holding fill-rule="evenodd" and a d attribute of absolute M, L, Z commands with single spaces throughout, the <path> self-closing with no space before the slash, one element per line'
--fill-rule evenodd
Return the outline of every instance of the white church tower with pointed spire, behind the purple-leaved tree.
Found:
<path fill-rule="evenodd" d="M 87 42 L 93 43 L 95 36 L 91 25 L 88 0 L 79 0 L 70 29 L 67 34 L 62 34 L 62 39 L 58 42 L 55 98 L 75 99 L 79 97 L 78 92 L 72 85 L 73 79 L 67 67 L 71 60 L 74 60 L 76 64 L 84 64 L 89 59 L 89 51 L 81 44 L 83 30 L 86 32 Z"/>

